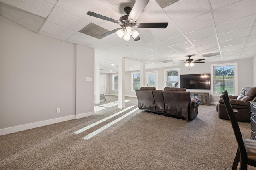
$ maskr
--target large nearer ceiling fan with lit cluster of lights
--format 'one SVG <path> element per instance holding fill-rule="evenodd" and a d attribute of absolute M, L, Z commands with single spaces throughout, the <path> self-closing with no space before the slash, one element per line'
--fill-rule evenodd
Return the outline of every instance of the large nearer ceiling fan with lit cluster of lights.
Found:
<path fill-rule="evenodd" d="M 94 16 L 96 18 L 100 18 L 102 20 L 118 23 L 122 28 L 116 28 L 112 31 L 102 34 L 101 36 L 105 37 L 112 33 L 117 33 L 120 38 L 123 38 L 126 41 L 130 40 L 130 36 L 134 39 L 134 41 L 140 40 L 138 36 L 139 33 L 133 27 L 136 28 L 166 28 L 168 22 L 152 22 L 152 23 L 137 23 L 137 18 L 140 13 L 144 10 L 149 0 L 136 0 L 134 6 L 132 8 L 126 7 L 124 8 L 124 12 L 126 15 L 121 16 L 119 21 L 114 20 L 112 18 L 108 18 L 106 16 L 102 16 L 100 14 L 96 14 L 94 12 L 88 11 L 87 15 Z"/>

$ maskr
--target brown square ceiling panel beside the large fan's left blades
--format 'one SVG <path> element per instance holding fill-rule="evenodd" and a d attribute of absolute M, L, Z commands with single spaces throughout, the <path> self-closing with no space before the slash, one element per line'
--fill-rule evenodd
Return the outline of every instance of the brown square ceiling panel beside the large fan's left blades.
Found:
<path fill-rule="evenodd" d="M 79 32 L 84 33 L 86 35 L 90 35 L 90 36 L 98 38 L 98 39 L 102 39 L 103 36 L 101 36 L 101 35 L 104 33 L 107 33 L 108 30 L 105 28 L 102 28 L 99 25 L 96 25 L 94 23 L 89 23 L 86 27 L 81 29 L 81 31 L 79 31 Z"/>

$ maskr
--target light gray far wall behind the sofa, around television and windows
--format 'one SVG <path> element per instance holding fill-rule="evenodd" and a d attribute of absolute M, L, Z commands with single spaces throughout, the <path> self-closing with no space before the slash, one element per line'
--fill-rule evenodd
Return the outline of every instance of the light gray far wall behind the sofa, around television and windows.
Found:
<path fill-rule="evenodd" d="M 255 58 L 255 57 L 254 57 Z M 253 59 L 240 59 L 233 61 L 222 61 L 222 62 L 214 62 L 214 63 L 196 63 L 190 70 L 186 66 L 176 66 L 176 67 L 168 67 L 168 68 L 157 68 L 157 69 L 147 69 L 146 72 L 158 71 L 158 89 L 164 89 L 165 87 L 165 79 L 164 79 L 164 70 L 170 68 L 180 68 L 180 74 L 202 74 L 202 73 L 211 73 L 211 64 L 222 64 L 222 63 L 238 63 L 238 94 L 240 94 L 240 90 L 245 86 L 256 86 L 256 83 L 253 83 L 255 72 L 255 66 L 251 67 L 253 64 Z M 256 62 L 256 61 L 254 61 Z M 139 70 L 134 70 L 132 72 L 139 72 Z M 125 73 L 125 95 L 126 96 L 136 96 L 135 92 L 131 91 L 131 73 Z M 113 73 L 117 74 L 117 73 Z M 112 75 L 109 75 L 110 84 L 112 84 Z M 255 75 L 255 74 L 254 74 Z M 111 85 L 112 89 L 112 85 Z M 210 90 L 190 90 L 191 92 L 210 92 Z M 111 94 L 118 94 L 117 91 L 110 91 Z M 218 102 L 219 96 L 211 96 L 211 102 Z"/>

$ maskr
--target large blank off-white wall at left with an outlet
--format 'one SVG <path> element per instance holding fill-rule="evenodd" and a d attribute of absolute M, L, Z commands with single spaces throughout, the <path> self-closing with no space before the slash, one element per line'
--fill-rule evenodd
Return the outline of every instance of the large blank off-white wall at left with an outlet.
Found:
<path fill-rule="evenodd" d="M 76 45 L 38 35 L 2 17 L 0 25 L 0 135 L 74 119 Z M 88 60 L 94 63 L 94 56 Z M 86 66 L 86 72 L 93 74 L 94 68 Z M 94 111 L 93 99 L 94 94 L 86 96 L 83 103 L 89 109 L 83 113 Z"/>

